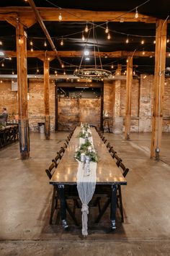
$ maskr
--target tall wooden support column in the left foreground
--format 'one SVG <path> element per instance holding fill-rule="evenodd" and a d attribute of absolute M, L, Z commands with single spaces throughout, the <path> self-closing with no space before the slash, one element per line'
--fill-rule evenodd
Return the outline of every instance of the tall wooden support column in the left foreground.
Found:
<path fill-rule="evenodd" d="M 30 137 L 27 113 L 27 33 L 17 19 L 17 84 L 19 105 L 19 148 L 21 159 L 30 156 Z"/>

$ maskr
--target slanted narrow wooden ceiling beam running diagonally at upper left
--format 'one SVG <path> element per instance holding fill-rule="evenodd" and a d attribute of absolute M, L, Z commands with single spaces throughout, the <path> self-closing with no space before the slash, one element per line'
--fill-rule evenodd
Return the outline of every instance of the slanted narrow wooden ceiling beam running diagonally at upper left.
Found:
<path fill-rule="evenodd" d="M 50 46 L 51 48 L 53 49 L 54 53 L 55 53 L 55 56 L 57 57 L 59 63 L 61 64 L 62 66 L 62 61 L 61 61 L 61 58 L 58 56 L 58 51 L 57 49 L 55 48 L 55 45 L 53 43 L 53 40 L 50 38 L 50 34 L 48 33 L 48 30 L 47 28 L 45 27 L 45 24 L 44 22 L 42 21 L 42 18 L 40 16 L 40 13 L 39 11 L 37 10 L 36 6 L 35 6 L 35 3 L 33 0 L 28 0 L 29 3 L 30 3 L 30 6 L 32 7 L 32 10 L 34 11 L 35 13 L 35 17 L 37 18 L 37 21 L 39 22 L 40 26 L 42 27 L 42 30 L 44 31 L 45 33 L 45 36 L 46 38 L 48 39 L 48 42 L 50 43 Z"/>

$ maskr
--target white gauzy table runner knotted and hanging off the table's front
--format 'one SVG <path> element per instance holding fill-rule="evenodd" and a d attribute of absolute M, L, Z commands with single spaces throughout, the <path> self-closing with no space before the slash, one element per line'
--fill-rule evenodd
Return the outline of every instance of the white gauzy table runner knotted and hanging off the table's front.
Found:
<path fill-rule="evenodd" d="M 89 140 L 93 142 L 92 137 Z M 86 167 L 84 163 L 79 161 L 78 172 L 77 172 L 77 190 L 79 192 L 79 197 L 82 202 L 81 212 L 82 212 L 82 234 L 87 236 L 87 222 L 89 214 L 89 202 L 94 195 L 94 190 L 97 182 L 97 163 L 90 161 L 90 174 L 86 176 Z"/>

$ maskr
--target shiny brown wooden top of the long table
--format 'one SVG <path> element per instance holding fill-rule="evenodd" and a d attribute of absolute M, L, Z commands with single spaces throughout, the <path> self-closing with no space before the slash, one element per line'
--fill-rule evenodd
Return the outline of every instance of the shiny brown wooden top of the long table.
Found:
<path fill-rule="evenodd" d="M 58 167 L 50 179 L 50 184 L 76 184 L 76 174 L 79 163 L 74 158 L 76 148 L 79 145 L 80 127 L 76 127 L 68 148 L 61 158 Z M 97 163 L 97 184 L 124 184 L 127 182 L 122 176 L 120 168 L 117 167 L 112 156 L 109 154 L 106 145 L 102 142 L 96 129 L 91 128 L 94 149 L 97 152 L 99 161 Z"/>

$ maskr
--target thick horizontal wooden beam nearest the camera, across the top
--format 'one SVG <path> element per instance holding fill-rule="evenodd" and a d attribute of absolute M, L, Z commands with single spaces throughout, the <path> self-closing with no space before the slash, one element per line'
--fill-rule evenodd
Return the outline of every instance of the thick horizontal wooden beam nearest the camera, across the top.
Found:
<path fill-rule="evenodd" d="M 37 7 L 36 9 L 44 21 L 58 21 L 58 15 L 61 13 L 63 22 L 120 22 L 120 18 L 122 22 L 156 22 L 156 17 L 150 17 L 144 14 L 138 14 L 138 18 L 135 18 L 135 12 L 96 12 L 82 9 L 58 9 L 49 7 Z M 35 19 L 35 14 L 30 7 L 3 7 L 0 10 L 0 20 L 6 20 L 9 17 L 16 18 L 17 15 L 20 19 L 23 17 L 28 20 Z"/>

